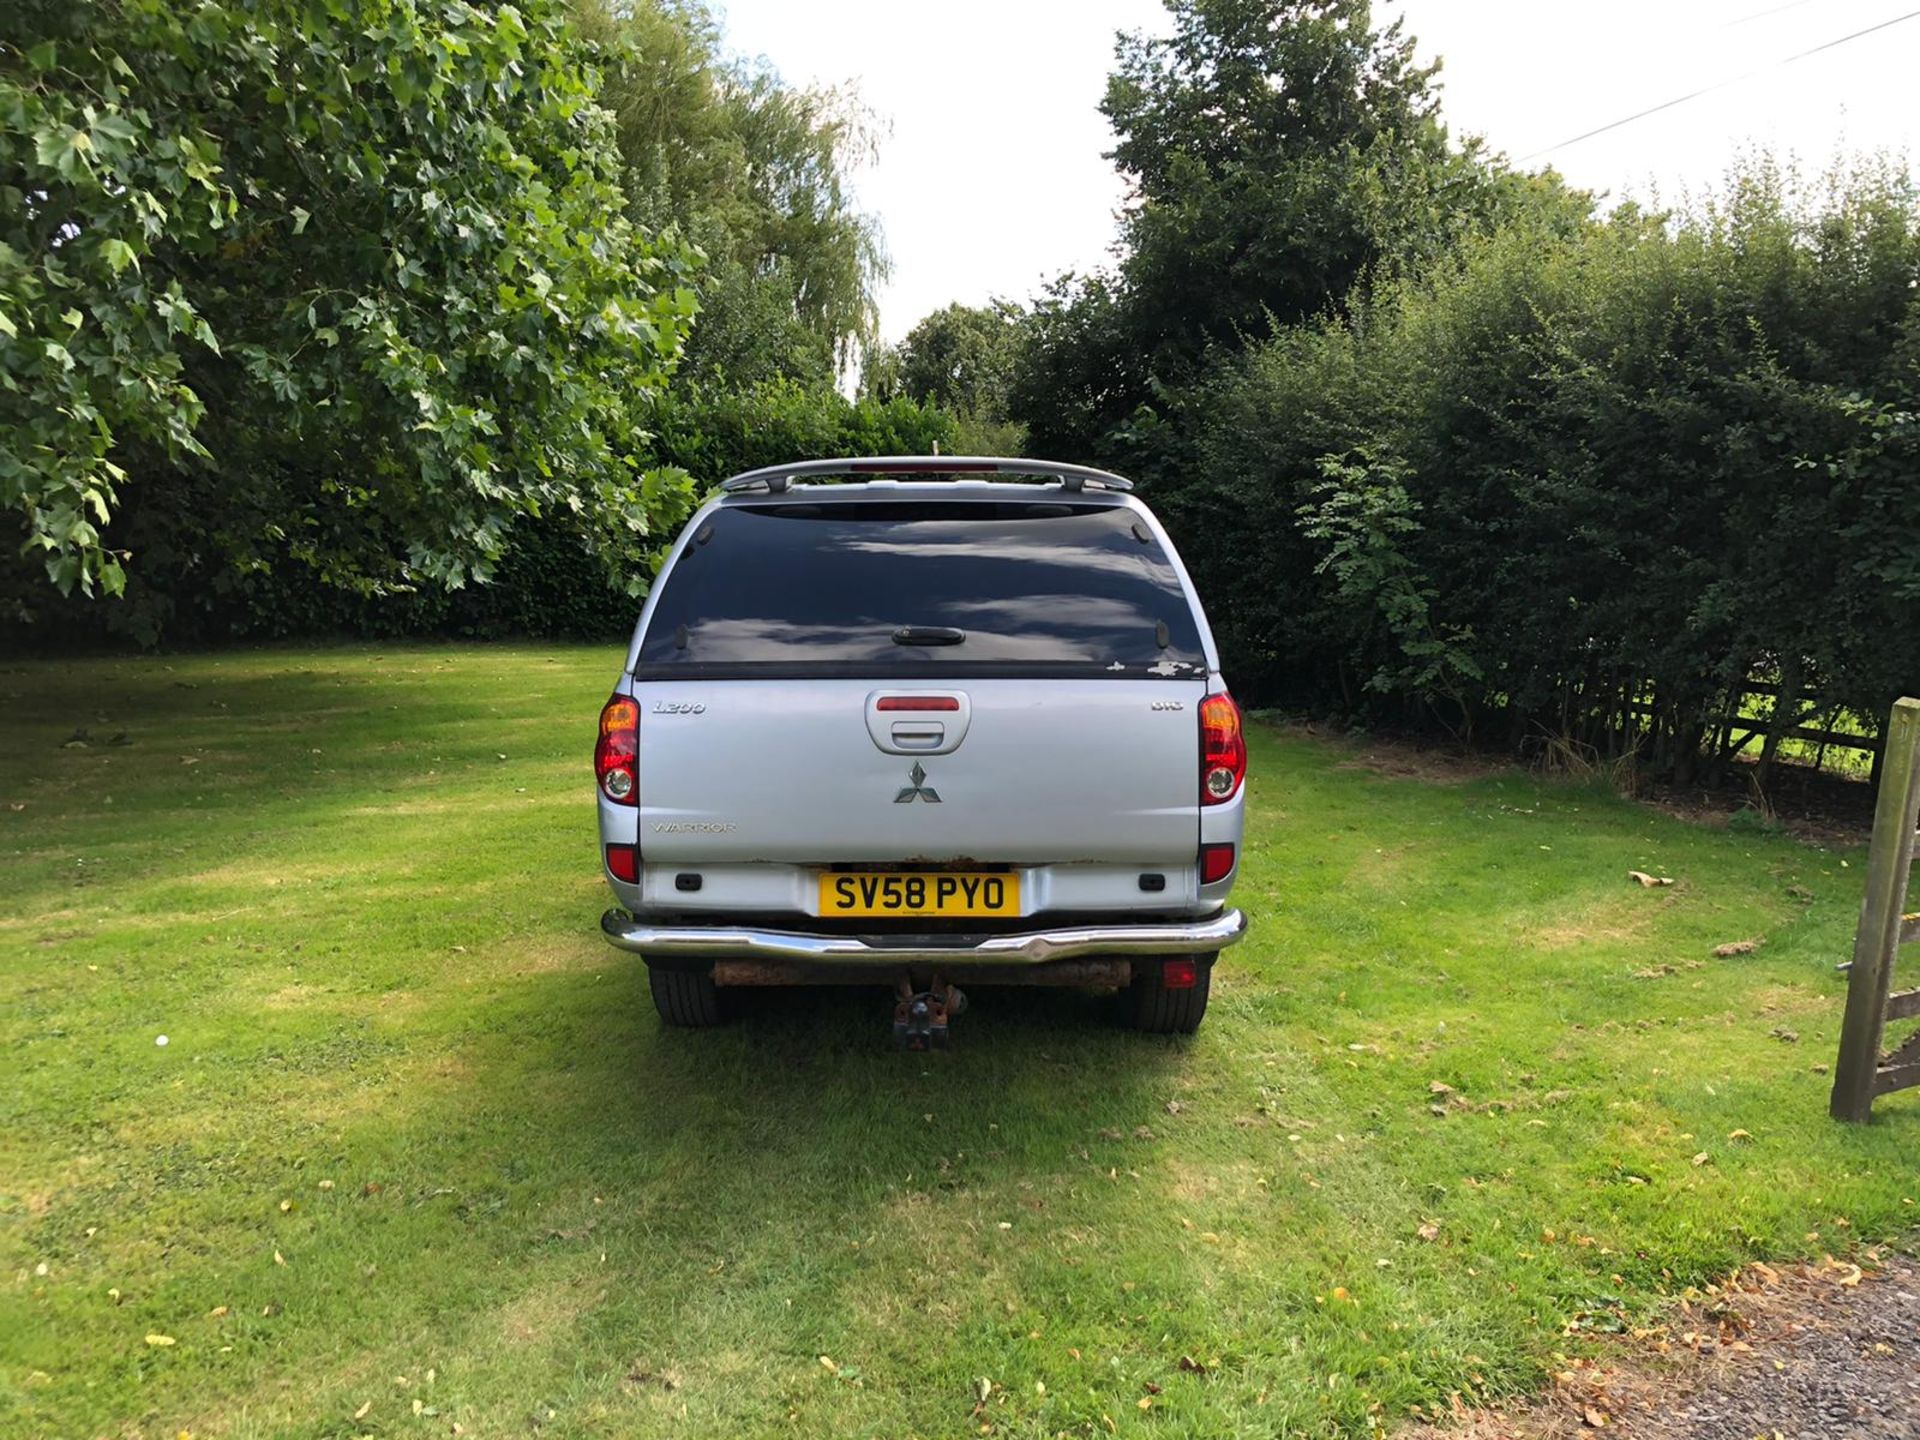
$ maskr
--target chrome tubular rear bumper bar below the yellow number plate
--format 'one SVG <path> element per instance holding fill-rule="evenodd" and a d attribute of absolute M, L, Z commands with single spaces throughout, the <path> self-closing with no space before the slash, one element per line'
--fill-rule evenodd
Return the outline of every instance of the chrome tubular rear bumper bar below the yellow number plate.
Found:
<path fill-rule="evenodd" d="M 624 910 L 601 916 L 607 939 L 649 960 L 797 960 L 829 966 L 1046 964 L 1075 956 L 1144 956 L 1223 950 L 1246 935 L 1246 916 L 1140 925 L 1066 925 L 1008 935 L 808 935 L 787 929 L 655 925 Z"/>

